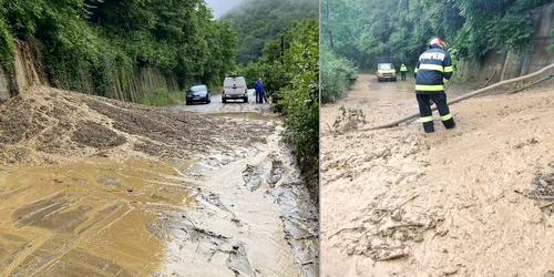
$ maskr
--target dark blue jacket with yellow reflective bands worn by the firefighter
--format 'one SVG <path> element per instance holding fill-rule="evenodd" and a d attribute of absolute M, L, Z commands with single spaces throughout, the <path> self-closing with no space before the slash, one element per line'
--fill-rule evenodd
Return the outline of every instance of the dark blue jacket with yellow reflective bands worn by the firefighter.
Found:
<path fill-rule="evenodd" d="M 452 78 L 452 60 L 440 47 L 432 47 L 418 60 L 416 70 L 416 93 L 429 94 L 444 91 L 444 83 Z"/>

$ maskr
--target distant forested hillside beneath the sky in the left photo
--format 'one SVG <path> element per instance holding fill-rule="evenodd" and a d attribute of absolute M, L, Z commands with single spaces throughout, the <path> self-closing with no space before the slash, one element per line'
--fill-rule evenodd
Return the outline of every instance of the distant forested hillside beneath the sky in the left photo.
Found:
<path fill-rule="evenodd" d="M 266 43 L 276 38 L 291 22 L 304 18 L 318 17 L 317 0 L 246 0 L 232 10 L 222 21 L 228 21 L 237 32 L 238 55 L 237 64 L 246 65 L 256 62 L 264 53 L 264 47 L 280 45 L 280 40 Z M 290 43 L 286 40 L 285 43 Z M 275 57 L 274 57 L 275 58 Z"/>

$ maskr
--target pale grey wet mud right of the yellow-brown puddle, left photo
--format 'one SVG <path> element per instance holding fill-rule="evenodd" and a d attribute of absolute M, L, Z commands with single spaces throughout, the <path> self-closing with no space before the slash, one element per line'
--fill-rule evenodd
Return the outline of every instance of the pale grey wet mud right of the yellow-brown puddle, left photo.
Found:
<path fill-rule="evenodd" d="M 278 133 L 243 158 L 191 167 L 202 186 L 185 216 L 164 214 L 175 239 L 161 276 L 318 276 L 315 204 Z"/>

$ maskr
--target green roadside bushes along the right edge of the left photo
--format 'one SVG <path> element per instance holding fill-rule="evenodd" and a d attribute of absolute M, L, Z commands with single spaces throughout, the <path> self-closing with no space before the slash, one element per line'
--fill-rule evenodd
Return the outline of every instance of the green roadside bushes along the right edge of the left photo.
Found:
<path fill-rule="evenodd" d="M 273 109 L 285 119 L 285 140 L 305 173 L 316 170 L 319 154 L 319 22 L 294 21 L 265 44 L 257 62 L 239 68 L 247 84 L 260 76 Z M 285 50 L 280 53 L 280 38 Z"/>

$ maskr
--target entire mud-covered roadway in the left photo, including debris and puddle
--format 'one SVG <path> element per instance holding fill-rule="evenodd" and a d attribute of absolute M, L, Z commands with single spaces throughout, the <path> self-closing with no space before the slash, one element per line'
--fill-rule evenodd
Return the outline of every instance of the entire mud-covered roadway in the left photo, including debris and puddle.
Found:
<path fill-rule="evenodd" d="M 215 99 L 263 115 L 45 86 L 2 103 L 0 275 L 316 276 L 317 212 L 278 117 Z"/>

